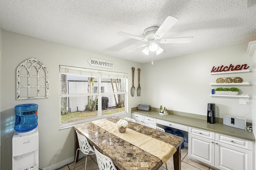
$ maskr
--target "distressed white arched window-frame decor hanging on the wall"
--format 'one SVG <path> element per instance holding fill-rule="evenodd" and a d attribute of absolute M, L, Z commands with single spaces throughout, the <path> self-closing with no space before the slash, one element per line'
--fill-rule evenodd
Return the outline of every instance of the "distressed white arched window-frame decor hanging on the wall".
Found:
<path fill-rule="evenodd" d="M 39 60 L 23 61 L 16 70 L 16 78 L 16 100 L 48 98 L 49 73 Z"/>

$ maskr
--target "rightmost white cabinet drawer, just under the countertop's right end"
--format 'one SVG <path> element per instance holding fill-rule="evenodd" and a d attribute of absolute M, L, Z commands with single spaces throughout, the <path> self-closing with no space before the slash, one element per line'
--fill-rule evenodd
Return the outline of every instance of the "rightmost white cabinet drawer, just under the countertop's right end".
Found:
<path fill-rule="evenodd" d="M 231 136 L 223 135 L 223 134 L 219 134 L 219 133 L 215 134 L 215 141 L 226 143 L 226 144 L 229 144 L 229 145 L 233 145 L 233 146 L 248 149 L 248 150 L 253 149 L 253 142 L 252 141 L 247 141 L 247 140 L 244 140 L 244 139 L 240 139 L 240 138 L 237 138 L 237 137 L 231 137 Z"/>

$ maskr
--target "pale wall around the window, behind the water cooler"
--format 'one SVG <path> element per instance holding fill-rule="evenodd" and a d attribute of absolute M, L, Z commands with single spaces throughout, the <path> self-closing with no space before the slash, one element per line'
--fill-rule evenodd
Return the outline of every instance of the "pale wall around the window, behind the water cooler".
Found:
<path fill-rule="evenodd" d="M 115 67 L 113 69 L 91 67 L 87 62 L 90 57 L 112 61 Z M 38 59 L 49 71 L 48 99 L 15 100 L 16 67 L 28 58 Z M 142 64 L 2 31 L 1 169 L 12 169 L 14 107 L 18 104 L 38 104 L 40 169 L 47 167 L 52 169 L 52 165 L 69 160 L 74 156 L 74 129 L 59 130 L 59 65 L 128 73 L 128 115 L 126 116 L 131 117 L 131 107 L 136 107 L 142 103 L 142 97 L 131 97 L 130 95 L 132 87 L 131 68 L 141 68 Z M 135 84 L 138 84 L 137 76 Z"/>

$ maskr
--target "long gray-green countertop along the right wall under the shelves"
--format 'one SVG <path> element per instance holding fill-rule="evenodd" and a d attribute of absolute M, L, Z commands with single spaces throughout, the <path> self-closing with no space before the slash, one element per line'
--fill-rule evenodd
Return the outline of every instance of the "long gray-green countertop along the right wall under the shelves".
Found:
<path fill-rule="evenodd" d="M 206 120 L 203 119 L 196 119 L 192 117 L 186 117 L 182 115 L 175 115 L 175 114 L 168 114 L 168 115 L 160 115 L 158 111 L 140 111 L 140 110 L 134 110 L 132 113 L 139 113 L 141 115 L 146 115 L 150 117 L 154 117 L 156 119 L 161 119 L 165 121 L 170 121 L 173 123 L 178 123 L 181 125 L 187 125 L 190 127 L 196 127 L 199 129 L 204 129 L 224 135 L 229 135 L 232 137 L 238 137 L 242 139 L 246 139 L 248 141 L 255 141 L 255 137 L 253 135 L 253 132 L 246 131 L 243 129 L 238 129 L 234 127 L 230 127 L 227 125 L 223 125 L 223 123 L 214 123 L 210 124 L 207 123 Z"/>

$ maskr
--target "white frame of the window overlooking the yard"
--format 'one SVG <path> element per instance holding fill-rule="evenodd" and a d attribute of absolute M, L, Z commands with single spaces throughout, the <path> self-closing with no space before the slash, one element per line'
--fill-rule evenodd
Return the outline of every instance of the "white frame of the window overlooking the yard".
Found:
<path fill-rule="evenodd" d="M 119 113 L 113 113 L 111 115 L 107 115 L 102 117 L 102 100 L 98 100 L 98 117 L 96 118 L 92 118 L 92 119 L 86 119 L 86 120 L 82 120 L 82 121 L 76 121 L 76 122 L 72 122 L 72 123 L 67 123 L 64 125 L 61 125 L 61 98 L 62 97 L 70 97 L 70 96 L 81 96 L 81 94 L 61 94 L 60 93 L 60 78 L 59 78 L 59 102 L 60 102 L 60 106 L 59 106 L 59 115 L 60 115 L 60 130 L 61 129 L 67 129 L 70 127 L 73 127 L 74 125 L 80 124 L 80 123 L 85 123 L 85 122 L 91 122 L 94 120 L 98 120 L 98 119 L 102 119 L 102 118 L 106 118 L 106 117 L 112 117 L 112 116 L 120 116 L 120 115 L 124 115 L 128 113 L 128 74 L 127 73 L 122 73 L 122 72 L 111 72 L 111 71 L 105 71 L 105 70 L 95 70 L 95 69 L 88 69 L 88 68 L 80 68 L 80 67 L 72 67 L 72 66 L 63 66 L 63 65 L 59 65 L 59 76 L 60 74 L 64 73 L 64 70 L 69 69 L 70 71 L 78 71 L 78 72 L 84 72 L 85 74 L 90 73 L 91 75 L 93 75 L 95 78 L 98 78 L 98 89 L 101 87 L 101 79 L 102 78 L 110 78 L 113 76 L 117 76 L 118 77 L 122 77 L 122 79 L 125 79 L 125 92 L 112 92 L 112 93 L 102 93 L 101 90 L 98 90 L 97 93 L 84 93 L 82 94 L 82 96 L 98 96 L 98 99 L 102 98 L 102 96 L 106 96 L 108 94 L 124 94 L 124 111 L 119 112 Z M 74 73 L 75 75 L 79 75 Z M 78 73 L 77 72 L 77 73 Z M 83 74 L 83 73 L 82 73 Z M 81 75 L 81 74 L 80 74 Z M 91 75 L 86 75 L 86 76 L 91 76 Z M 100 75 L 103 75 L 102 77 Z M 106 76 L 110 76 L 110 77 L 106 77 Z M 67 81 L 67 80 L 66 80 Z"/>

